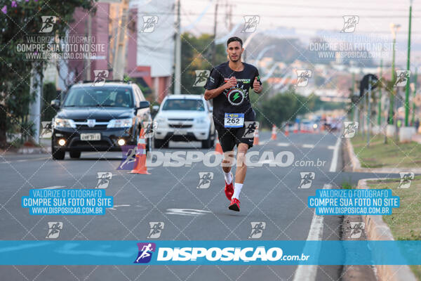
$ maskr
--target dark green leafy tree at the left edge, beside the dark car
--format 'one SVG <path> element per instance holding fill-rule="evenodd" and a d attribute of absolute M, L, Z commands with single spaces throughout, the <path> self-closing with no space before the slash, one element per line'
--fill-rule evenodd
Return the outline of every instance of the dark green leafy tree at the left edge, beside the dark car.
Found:
<path fill-rule="evenodd" d="M 75 8 L 91 9 L 96 0 L 0 0 L 0 110 L 6 122 L 0 122 L 0 146 L 6 146 L 6 132 L 20 131 L 22 135 L 32 133 L 32 124 L 27 121 L 29 103 L 35 93 L 29 91 L 31 71 L 39 74 L 46 60 L 29 61 L 25 53 L 18 52 L 18 45 L 26 44 L 28 35 L 40 33 L 43 15 L 56 17 L 51 34 L 65 34 L 69 22 L 73 21 Z M 35 85 L 36 86 L 36 85 Z"/>

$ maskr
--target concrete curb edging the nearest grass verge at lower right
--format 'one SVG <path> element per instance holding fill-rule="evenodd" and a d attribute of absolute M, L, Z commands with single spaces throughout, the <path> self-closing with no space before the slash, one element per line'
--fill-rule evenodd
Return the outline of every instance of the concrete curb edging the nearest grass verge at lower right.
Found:
<path fill-rule="evenodd" d="M 363 178 L 358 181 L 357 188 L 368 188 L 367 181 L 382 178 Z M 384 179 L 384 178 L 383 178 Z M 363 215 L 365 231 L 368 240 L 394 240 L 389 226 L 383 221 L 382 216 Z M 417 281 L 409 266 L 375 265 L 379 280 L 387 281 Z"/>

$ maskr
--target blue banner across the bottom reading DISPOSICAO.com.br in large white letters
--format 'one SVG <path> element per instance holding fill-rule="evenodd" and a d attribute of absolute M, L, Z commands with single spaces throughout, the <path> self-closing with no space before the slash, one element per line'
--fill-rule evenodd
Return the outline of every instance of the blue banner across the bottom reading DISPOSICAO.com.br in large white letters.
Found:
<path fill-rule="evenodd" d="M 1 265 L 420 265 L 421 241 L 0 241 Z"/>

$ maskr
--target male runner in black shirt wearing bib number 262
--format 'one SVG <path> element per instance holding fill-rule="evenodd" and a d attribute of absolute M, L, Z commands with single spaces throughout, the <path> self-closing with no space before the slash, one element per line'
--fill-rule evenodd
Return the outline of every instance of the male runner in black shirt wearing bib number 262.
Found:
<path fill-rule="evenodd" d="M 248 148 L 253 146 L 251 138 L 244 136 L 246 124 L 255 121 L 255 112 L 251 108 L 248 89 L 255 93 L 262 92 L 259 72 L 256 67 L 241 62 L 243 41 L 231 37 L 227 41 L 229 61 L 213 67 L 206 85 L 205 99 L 213 99 L 213 123 L 218 131 L 218 138 L 224 152 L 222 170 L 225 175 L 225 195 L 231 201 L 228 209 L 240 211 L 239 195 L 246 178 L 247 166 L 244 162 Z M 234 145 L 237 145 L 237 159 L 234 178 L 231 173 Z"/>

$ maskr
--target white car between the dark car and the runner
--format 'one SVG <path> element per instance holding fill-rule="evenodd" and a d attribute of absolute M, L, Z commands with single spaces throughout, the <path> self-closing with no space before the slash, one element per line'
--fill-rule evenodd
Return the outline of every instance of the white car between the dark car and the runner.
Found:
<path fill-rule="evenodd" d="M 168 147 L 169 141 L 201 141 L 202 148 L 213 148 L 216 134 L 212 110 L 203 96 L 166 96 L 154 118 L 155 148 Z"/>

